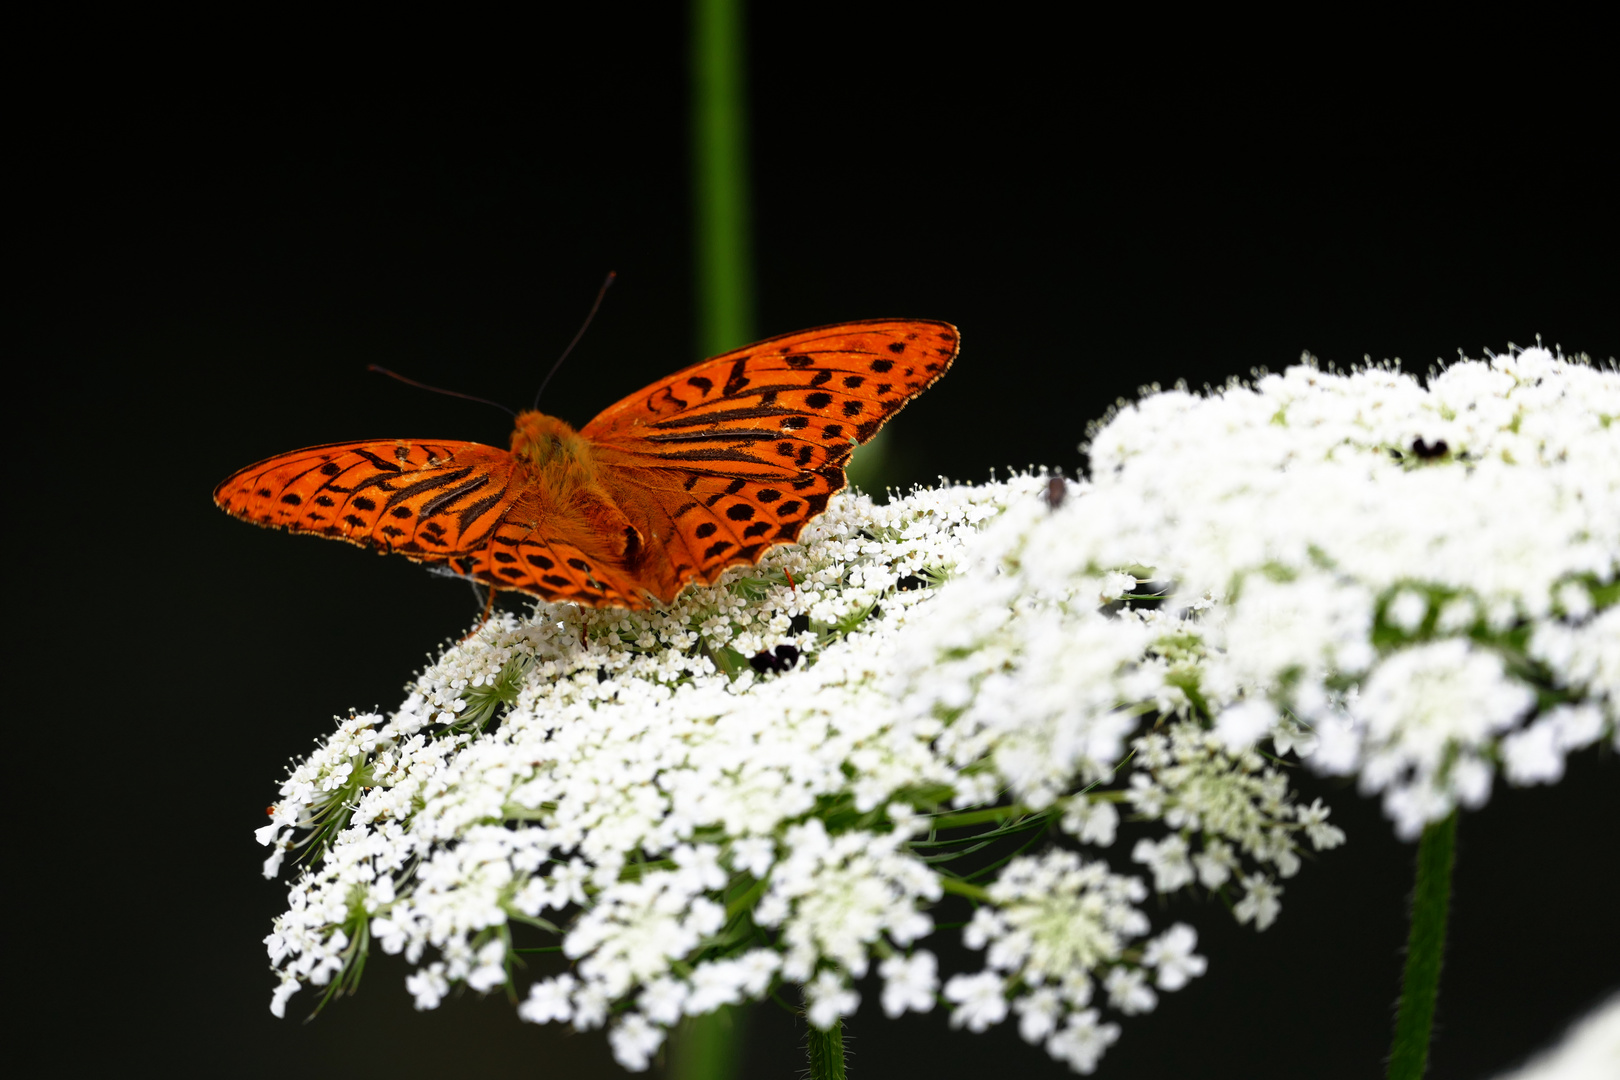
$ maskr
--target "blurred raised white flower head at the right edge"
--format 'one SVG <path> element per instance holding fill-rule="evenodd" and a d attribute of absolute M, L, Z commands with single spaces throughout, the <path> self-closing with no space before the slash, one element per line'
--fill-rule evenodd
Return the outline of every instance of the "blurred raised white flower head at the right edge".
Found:
<path fill-rule="evenodd" d="M 1403 837 L 1482 803 L 1497 769 L 1550 782 L 1620 738 L 1612 366 L 1531 348 L 1424 384 L 1302 364 L 1152 395 L 1097 434 L 1092 468 L 1077 547 L 1213 601 L 1215 730 L 1233 748 L 1278 730 L 1356 774 Z"/>

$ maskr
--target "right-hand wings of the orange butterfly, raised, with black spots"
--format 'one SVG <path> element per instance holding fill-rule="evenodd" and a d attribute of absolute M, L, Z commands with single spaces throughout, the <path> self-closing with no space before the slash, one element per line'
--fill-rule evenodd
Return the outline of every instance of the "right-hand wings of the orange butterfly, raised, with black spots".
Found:
<path fill-rule="evenodd" d="M 792 542 L 847 483 L 854 449 L 956 359 L 948 322 L 873 319 L 705 359 L 606 408 L 580 434 L 620 502 L 643 500 L 677 586 Z"/>

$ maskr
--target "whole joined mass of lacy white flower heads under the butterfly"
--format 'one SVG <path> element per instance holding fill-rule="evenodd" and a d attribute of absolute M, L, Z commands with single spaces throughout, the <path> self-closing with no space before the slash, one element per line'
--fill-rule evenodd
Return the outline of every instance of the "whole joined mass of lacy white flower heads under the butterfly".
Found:
<path fill-rule="evenodd" d="M 1544 350 L 1302 364 L 1144 397 L 1085 483 L 844 495 L 669 610 L 496 619 L 282 785 L 266 874 L 316 857 L 272 1009 L 381 946 L 420 1009 L 514 984 L 645 1069 L 682 1015 L 792 984 L 826 1028 L 875 972 L 888 1015 L 1090 1072 L 1205 970 L 1150 891 L 1265 929 L 1343 842 L 1280 758 L 1414 836 L 1617 740 L 1617 418 L 1612 369 Z M 923 947 L 941 905 L 980 970 Z"/>

